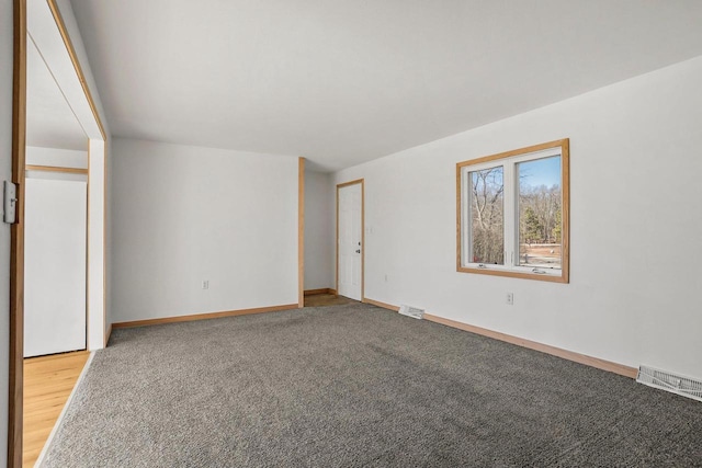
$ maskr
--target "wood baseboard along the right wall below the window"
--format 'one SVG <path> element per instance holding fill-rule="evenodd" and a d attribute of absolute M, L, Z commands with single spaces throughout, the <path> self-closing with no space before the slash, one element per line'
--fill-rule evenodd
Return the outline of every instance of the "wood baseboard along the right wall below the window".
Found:
<path fill-rule="evenodd" d="M 389 309 L 395 311 L 399 310 L 399 307 L 381 303 L 378 300 L 364 299 L 364 303 L 372 304 L 374 306 L 382 307 L 384 309 Z M 441 323 L 446 327 L 451 327 L 451 328 L 467 331 L 471 333 L 479 334 L 483 336 L 491 338 L 494 340 L 499 340 L 506 343 L 516 344 L 518 346 L 528 347 L 530 350 L 539 351 L 541 353 L 551 354 L 553 356 L 561 357 L 567 361 L 585 364 L 586 366 L 596 367 L 598 369 L 619 374 L 624 377 L 636 378 L 636 375 L 638 374 L 638 369 L 634 367 L 625 366 L 623 364 L 613 363 L 611 361 L 601 359 L 599 357 L 588 356 L 586 354 L 576 353 L 574 351 L 568 351 L 568 350 L 564 350 L 556 346 L 551 346 L 548 344 L 539 343 L 536 341 L 525 340 L 523 338 L 513 336 L 511 334 L 500 333 L 500 332 L 488 330 L 482 327 L 476 327 L 476 326 L 458 322 L 451 319 L 444 319 L 443 317 L 424 313 L 424 319 L 435 323 Z"/>

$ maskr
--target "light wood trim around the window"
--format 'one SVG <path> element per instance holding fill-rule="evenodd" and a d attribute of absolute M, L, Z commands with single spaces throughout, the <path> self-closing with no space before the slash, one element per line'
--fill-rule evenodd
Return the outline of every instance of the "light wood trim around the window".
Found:
<path fill-rule="evenodd" d="M 511 270 L 486 270 L 464 266 L 463 259 L 463 186 L 462 170 L 467 165 L 508 159 L 531 152 L 561 148 L 561 184 L 562 184 L 562 259 L 561 275 L 545 275 Z M 476 273 L 480 275 L 503 276 L 512 278 L 535 279 L 551 283 L 569 283 L 570 281 L 570 141 L 568 138 L 533 145 L 510 151 L 499 152 L 482 158 L 456 163 L 456 272 Z"/>

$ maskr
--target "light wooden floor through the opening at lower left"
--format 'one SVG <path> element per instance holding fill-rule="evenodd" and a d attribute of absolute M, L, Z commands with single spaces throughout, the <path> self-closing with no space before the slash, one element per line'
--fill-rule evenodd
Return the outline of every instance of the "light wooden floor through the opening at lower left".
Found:
<path fill-rule="evenodd" d="M 34 466 L 88 357 L 90 352 L 76 351 L 24 359 L 22 466 Z"/>

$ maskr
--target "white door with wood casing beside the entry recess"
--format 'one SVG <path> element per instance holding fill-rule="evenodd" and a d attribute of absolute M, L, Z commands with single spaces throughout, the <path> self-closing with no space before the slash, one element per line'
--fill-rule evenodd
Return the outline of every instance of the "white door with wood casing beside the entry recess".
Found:
<path fill-rule="evenodd" d="M 363 276 L 363 221 L 362 221 L 362 184 L 356 183 L 339 189 L 339 290 L 341 296 L 350 299 L 362 299 Z"/>

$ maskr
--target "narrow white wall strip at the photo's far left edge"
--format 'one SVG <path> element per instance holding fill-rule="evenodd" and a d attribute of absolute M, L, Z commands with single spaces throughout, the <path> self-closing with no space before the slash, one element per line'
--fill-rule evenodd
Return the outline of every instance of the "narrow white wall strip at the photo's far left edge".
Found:
<path fill-rule="evenodd" d="M 0 180 L 12 180 L 12 1 L 0 0 Z M 0 222 L 0 467 L 8 459 L 10 225 Z"/>

